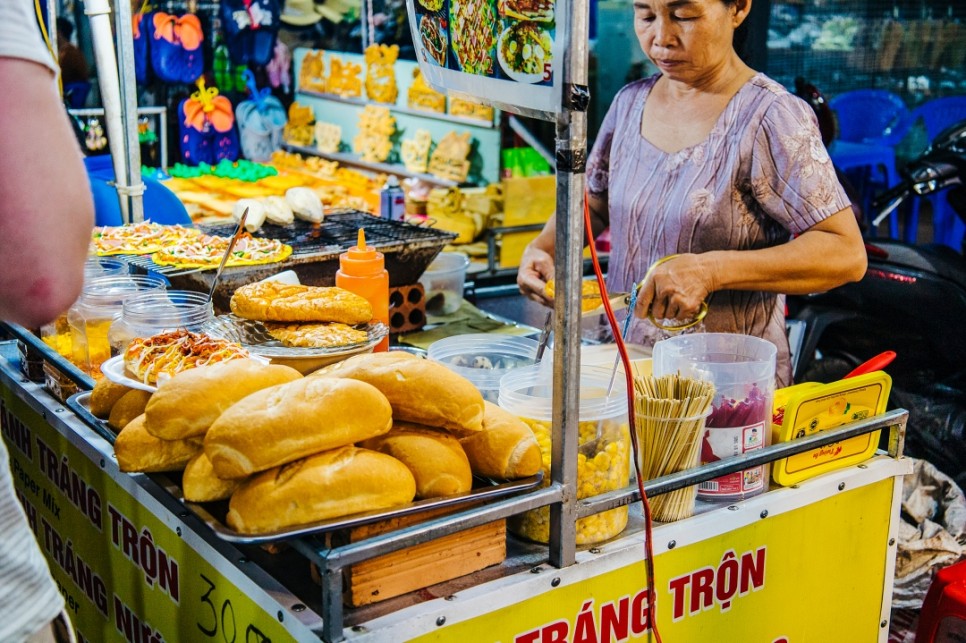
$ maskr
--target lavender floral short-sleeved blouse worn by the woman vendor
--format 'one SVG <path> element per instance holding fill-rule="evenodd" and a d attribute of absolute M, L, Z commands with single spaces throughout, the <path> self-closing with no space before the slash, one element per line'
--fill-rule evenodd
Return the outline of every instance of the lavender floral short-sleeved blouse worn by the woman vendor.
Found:
<path fill-rule="evenodd" d="M 785 243 L 850 205 L 808 105 L 764 74 L 728 103 L 701 143 L 668 154 L 641 135 L 658 76 L 621 89 L 587 167 L 588 190 L 606 198 L 611 228 L 608 289 L 627 292 L 663 256 Z M 778 385 L 791 384 L 783 295 L 718 291 L 708 332 L 763 337 L 778 347 Z M 633 342 L 660 339 L 631 325 Z"/>

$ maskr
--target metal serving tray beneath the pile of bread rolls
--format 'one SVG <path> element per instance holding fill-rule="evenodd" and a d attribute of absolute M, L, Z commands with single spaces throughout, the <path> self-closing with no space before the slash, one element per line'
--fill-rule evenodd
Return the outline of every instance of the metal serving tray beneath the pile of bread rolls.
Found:
<path fill-rule="evenodd" d="M 99 435 L 101 435 L 101 437 L 113 445 L 114 439 L 117 436 L 110 429 L 110 427 L 107 426 L 106 421 L 101 420 L 91 413 L 90 402 L 91 392 L 83 391 L 81 393 L 72 395 L 67 400 L 67 406 L 77 413 L 77 416 L 83 420 L 85 424 L 90 426 Z M 474 476 L 474 488 L 467 493 L 456 496 L 447 496 L 445 498 L 429 498 L 427 500 L 419 500 L 401 507 L 392 507 L 390 509 L 382 509 L 379 511 L 353 514 L 351 516 L 343 516 L 340 518 L 333 518 L 331 520 L 323 520 L 306 525 L 298 525 L 266 534 L 241 534 L 230 529 L 225 524 L 224 517 L 228 512 L 227 501 L 211 502 L 204 505 L 195 502 L 187 502 L 183 497 L 181 497 L 181 480 L 179 474 L 150 473 L 147 475 L 154 479 L 161 487 L 167 489 L 172 493 L 172 495 L 177 497 L 178 500 L 184 504 L 185 508 L 188 509 L 188 511 L 195 514 L 205 524 L 207 524 L 208 527 L 219 538 L 226 542 L 239 545 L 260 545 L 283 540 L 291 540 L 294 538 L 303 538 L 306 536 L 320 536 L 374 522 L 399 518 L 401 516 L 412 516 L 422 512 L 428 512 L 433 509 L 465 508 L 470 505 L 476 505 L 487 500 L 492 500 L 494 498 L 500 498 L 522 491 L 536 489 L 540 486 L 540 483 L 543 482 L 542 472 L 535 476 L 530 476 L 529 478 L 511 480 L 509 482 L 496 482 L 494 480 Z"/>

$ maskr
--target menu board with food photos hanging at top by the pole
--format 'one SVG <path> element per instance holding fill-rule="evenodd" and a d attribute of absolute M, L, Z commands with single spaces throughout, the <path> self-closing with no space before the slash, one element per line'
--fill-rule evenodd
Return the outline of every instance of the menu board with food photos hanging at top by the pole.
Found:
<path fill-rule="evenodd" d="M 426 81 L 539 118 L 559 112 L 567 12 L 557 0 L 408 0 Z"/>

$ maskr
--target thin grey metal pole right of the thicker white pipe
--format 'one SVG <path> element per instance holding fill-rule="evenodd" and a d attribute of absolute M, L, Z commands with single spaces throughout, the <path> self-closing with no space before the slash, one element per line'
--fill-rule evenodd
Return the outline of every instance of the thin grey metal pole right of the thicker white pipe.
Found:
<path fill-rule="evenodd" d="M 127 175 L 123 184 L 117 181 L 118 195 L 129 204 L 131 222 L 144 221 L 144 183 L 141 181 L 141 145 L 138 142 L 137 78 L 134 76 L 134 32 L 131 4 L 115 3 L 114 30 L 117 33 L 118 75 L 121 92 L 121 125 L 124 131 L 124 153 Z M 123 186 L 127 186 L 126 188 Z"/>

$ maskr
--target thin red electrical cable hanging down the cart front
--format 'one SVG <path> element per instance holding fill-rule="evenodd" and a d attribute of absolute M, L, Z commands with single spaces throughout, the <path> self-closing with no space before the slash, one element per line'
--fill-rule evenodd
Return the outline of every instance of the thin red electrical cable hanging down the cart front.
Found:
<path fill-rule="evenodd" d="M 590 259 L 594 265 L 594 274 L 597 277 L 597 285 L 600 286 L 600 295 L 604 305 L 604 314 L 610 324 L 611 332 L 614 334 L 614 343 L 617 344 L 617 352 L 620 354 L 621 363 L 624 364 L 624 381 L 627 385 L 627 420 L 630 427 L 631 447 L 633 450 L 634 472 L 637 474 L 637 490 L 641 494 L 641 505 L 644 508 L 644 567 L 647 578 L 647 604 L 650 615 L 651 631 L 657 643 L 662 643 L 661 634 L 657 629 L 657 594 L 654 591 L 654 545 L 653 531 L 654 522 L 651 518 L 651 504 L 644 493 L 644 480 L 641 475 L 640 446 L 637 440 L 637 430 L 634 418 L 634 373 L 631 371 L 631 360 L 627 355 L 627 347 L 624 345 L 624 338 L 621 336 L 617 318 L 614 317 L 614 309 L 611 308 L 610 298 L 607 296 L 607 286 L 604 284 L 604 275 L 600 270 L 600 261 L 597 259 L 597 248 L 594 246 L 594 232 L 590 222 L 590 201 L 584 192 L 584 227 L 587 230 L 587 240 L 590 245 Z M 632 286 L 633 287 L 633 286 Z M 627 311 L 628 315 L 633 315 L 633 310 Z"/>

